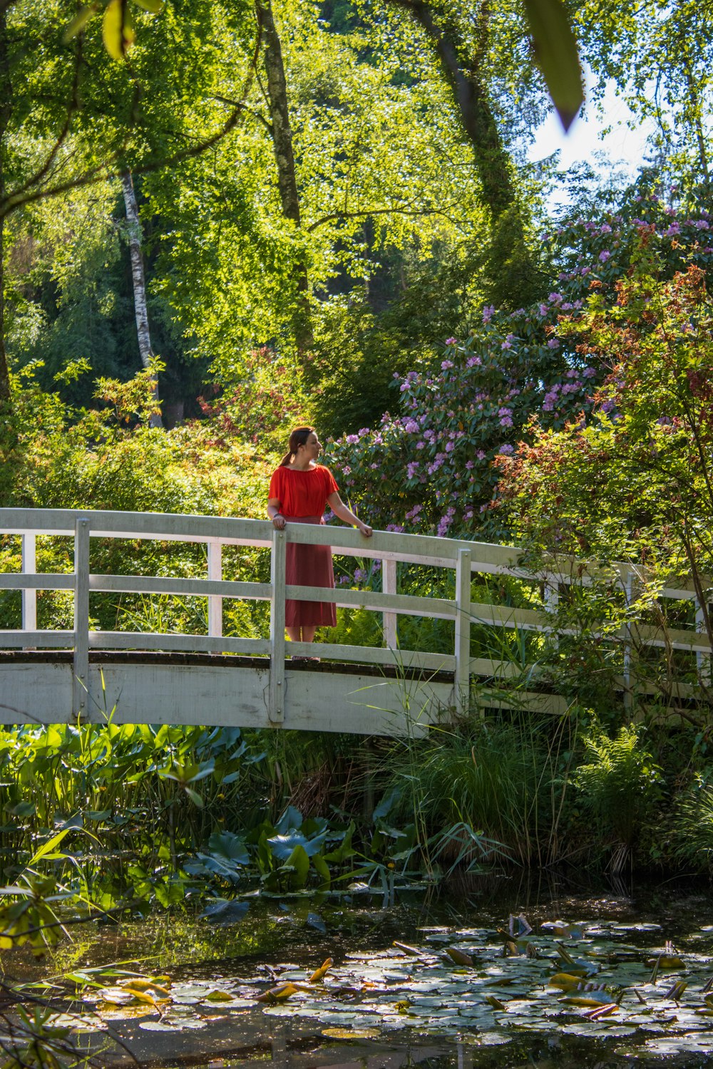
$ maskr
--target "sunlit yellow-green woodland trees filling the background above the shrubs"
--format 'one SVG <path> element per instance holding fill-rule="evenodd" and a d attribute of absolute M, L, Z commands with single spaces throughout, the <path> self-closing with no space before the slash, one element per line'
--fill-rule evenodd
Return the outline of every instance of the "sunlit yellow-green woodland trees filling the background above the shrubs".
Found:
<path fill-rule="evenodd" d="M 373 427 L 400 408 L 394 374 L 438 369 L 484 306 L 512 312 L 557 289 L 554 190 L 573 218 L 633 199 L 605 167 L 527 161 L 552 104 L 517 3 L 130 12 L 121 63 L 99 18 L 62 42 L 72 4 L 3 5 L 4 347 L 65 404 L 96 405 L 97 377 L 142 367 L 112 171 L 135 171 L 169 428 L 276 358 L 325 434 Z M 635 122 L 657 121 L 648 188 L 706 207 L 706 13 L 570 13 L 587 107 L 614 79 Z"/>

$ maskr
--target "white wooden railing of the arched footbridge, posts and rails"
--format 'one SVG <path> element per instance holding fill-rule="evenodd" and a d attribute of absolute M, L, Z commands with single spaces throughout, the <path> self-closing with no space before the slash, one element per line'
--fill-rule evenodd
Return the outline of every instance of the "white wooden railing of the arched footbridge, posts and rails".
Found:
<path fill-rule="evenodd" d="M 559 591 L 572 583 L 591 582 L 580 567 L 570 558 L 552 558 L 544 571 L 533 573 L 523 567 L 522 551 L 489 543 L 456 539 L 375 531 L 365 539 L 358 531 L 342 526 L 290 524 L 276 531 L 272 523 L 238 517 L 174 515 L 161 513 L 92 512 L 63 509 L 0 509 L 0 534 L 21 538 L 21 572 L 0 573 L 0 590 L 20 590 L 22 626 L 0 631 L 0 649 L 69 649 L 74 655 L 75 708 L 81 712 L 87 701 L 87 680 L 90 650 L 186 651 L 235 653 L 269 656 L 269 716 L 279 723 L 282 715 L 281 694 L 284 690 L 284 603 L 285 599 L 334 602 L 338 607 L 360 607 L 382 615 L 384 647 L 317 645 L 294 642 L 290 651 L 296 655 L 317 653 L 322 657 L 361 664 L 399 664 L 429 671 L 453 673 L 454 700 L 467 700 L 471 676 L 505 679 L 512 675 L 508 660 L 470 656 L 470 629 L 474 624 L 518 631 L 552 632 Z M 74 570 L 71 573 L 36 571 L 38 537 L 64 536 L 74 539 Z M 204 578 L 166 575 L 105 574 L 90 570 L 92 539 L 187 542 L 206 548 Z M 330 545 L 347 557 L 374 559 L 382 562 L 382 590 L 334 590 L 285 583 L 285 551 L 288 542 Z M 223 578 L 222 551 L 227 546 L 261 547 L 270 552 L 269 583 Z M 413 564 L 454 572 L 452 598 L 418 597 L 397 591 L 397 564 Z M 627 566 L 617 566 L 624 594 L 632 597 L 632 586 L 640 573 Z M 509 575 L 538 585 L 544 595 L 543 608 L 524 608 L 474 601 L 474 573 Z M 37 629 L 37 590 L 64 590 L 74 594 L 74 626 L 69 630 Z M 626 592 L 629 592 L 626 594 Z M 138 631 L 96 631 L 90 628 L 90 594 L 171 594 L 207 599 L 207 634 L 175 634 Z M 662 598 L 695 600 L 691 584 L 672 580 L 660 591 Z M 269 602 L 269 637 L 248 638 L 222 634 L 224 599 Z M 400 615 L 453 621 L 453 647 L 449 653 L 399 649 L 397 620 Z M 701 633 L 702 614 L 697 611 L 698 630 L 679 629 L 665 633 L 661 628 L 639 625 L 636 641 L 645 646 L 667 646 L 695 652 L 710 659 L 710 646 Z M 561 633 L 561 632 L 560 632 Z M 621 640 L 631 638 L 622 629 Z M 624 667 L 624 686 L 629 685 Z"/>

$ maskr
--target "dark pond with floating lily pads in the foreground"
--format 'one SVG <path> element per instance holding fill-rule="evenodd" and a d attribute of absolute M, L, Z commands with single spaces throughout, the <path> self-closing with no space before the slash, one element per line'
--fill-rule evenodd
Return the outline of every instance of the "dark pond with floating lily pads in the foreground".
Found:
<path fill-rule="evenodd" d="M 52 1022 L 107 1067 L 713 1066 L 709 885 L 476 878 L 201 912 L 87 926 L 51 964 L 5 952 L 5 982 L 53 985 Z"/>

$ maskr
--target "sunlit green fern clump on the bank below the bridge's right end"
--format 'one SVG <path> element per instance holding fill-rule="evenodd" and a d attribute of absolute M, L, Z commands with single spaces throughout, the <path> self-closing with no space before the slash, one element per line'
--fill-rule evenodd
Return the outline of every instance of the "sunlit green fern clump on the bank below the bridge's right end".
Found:
<path fill-rule="evenodd" d="M 583 804 L 600 834 L 631 847 L 651 808 L 661 801 L 661 769 L 644 743 L 645 729 L 624 726 L 611 739 L 601 728 L 583 738 L 590 758 L 574 771 Z"/>

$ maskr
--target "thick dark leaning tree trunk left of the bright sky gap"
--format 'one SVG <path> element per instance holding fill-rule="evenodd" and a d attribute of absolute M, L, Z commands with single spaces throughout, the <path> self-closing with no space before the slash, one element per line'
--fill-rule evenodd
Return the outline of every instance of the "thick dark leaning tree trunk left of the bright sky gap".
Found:
<path fill-rule="evenodd" d="M 476 49 L 466 47 L 454 18 L 446 11 L 423 0 L 392 2 L 410 12 L 433 43 L 472 146 L 483 200 L 491 213 L 491 239 L 485 255 L 490 298 L 496 305 L 527 305 L 537 295 L 539 272 L 527 241 L 512 160 L 491 108 L 483 73 L 490 18 L 487 0 L 482 0 L 478 15 L 480 42 Z"/>

